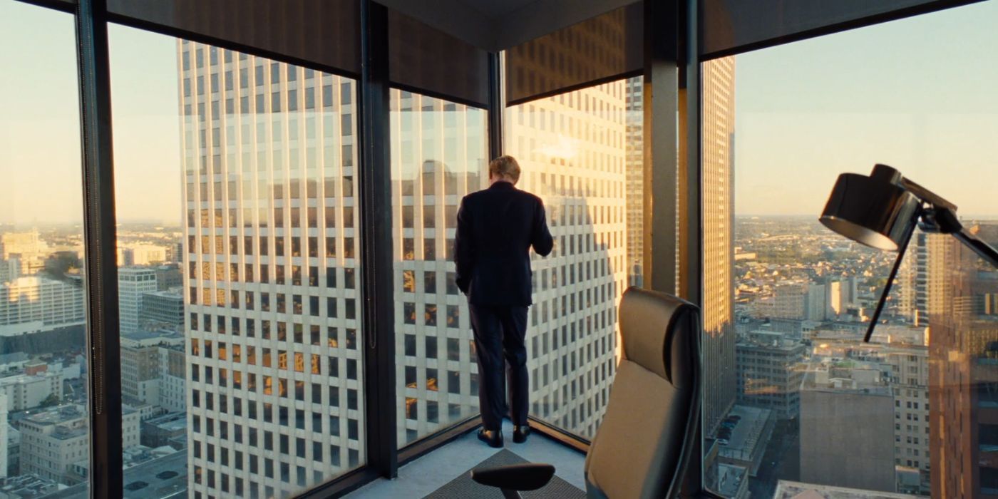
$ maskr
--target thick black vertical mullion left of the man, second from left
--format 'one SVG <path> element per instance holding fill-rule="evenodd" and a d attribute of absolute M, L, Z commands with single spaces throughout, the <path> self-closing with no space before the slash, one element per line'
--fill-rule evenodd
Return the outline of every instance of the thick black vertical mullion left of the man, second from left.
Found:
<path fill-rule="evenodd" d="M 363 282 L 364 417 L 367 463 L 381 476 L 398 474 L 395 414 L 395 328 L 392 300 L 388 10 L 360 5 L 358 86 L 360 273 Z"/>

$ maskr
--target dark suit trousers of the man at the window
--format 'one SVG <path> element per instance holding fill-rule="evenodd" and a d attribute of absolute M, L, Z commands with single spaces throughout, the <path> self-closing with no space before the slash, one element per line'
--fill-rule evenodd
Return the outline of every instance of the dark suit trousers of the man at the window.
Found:
<path fill-rule="evenodd" d="M 478 357 L 478 405 L 482 426 L 502 429 L 506 413 L 504 374 L 509 375 L 510 418 L 526 425 L 530 387 L 527 375 L 527 306 L 495 306 L 469 303 L 471 328 Z"/>

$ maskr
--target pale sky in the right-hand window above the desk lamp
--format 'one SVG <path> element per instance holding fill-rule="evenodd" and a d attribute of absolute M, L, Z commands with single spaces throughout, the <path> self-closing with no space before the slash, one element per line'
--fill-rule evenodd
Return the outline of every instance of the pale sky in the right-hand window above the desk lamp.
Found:
<path fill-rule="evenodd" d="M 736 57 L 736 213 L 818 215 L 875 163 L 998 215 L 998 0 Z"/>

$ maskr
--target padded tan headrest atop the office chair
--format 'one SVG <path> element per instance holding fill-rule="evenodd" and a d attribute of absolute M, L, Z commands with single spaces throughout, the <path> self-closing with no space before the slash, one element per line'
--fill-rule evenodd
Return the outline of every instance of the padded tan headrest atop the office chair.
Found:
<path fill-rule="evenodd" d="M 697 305 L 672 294 L 628 288 L 620 306 L 624 357 L 675 384 L 672 364 L 676 332 L 696 328 L 697 312 Z M 688 345 L 687 341 L 681 344 Z"/>

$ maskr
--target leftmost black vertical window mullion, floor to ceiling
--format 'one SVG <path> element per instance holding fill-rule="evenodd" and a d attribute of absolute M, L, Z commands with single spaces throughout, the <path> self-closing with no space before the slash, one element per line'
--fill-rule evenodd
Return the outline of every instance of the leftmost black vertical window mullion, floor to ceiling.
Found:
<path fill-rule="evenodd" d="M 107 3 L 76 15 L 83 145 L 91 497 L 121 497 L 122 396 Z"/>

